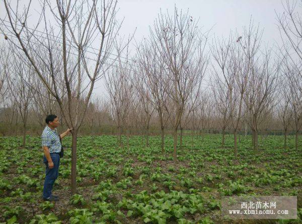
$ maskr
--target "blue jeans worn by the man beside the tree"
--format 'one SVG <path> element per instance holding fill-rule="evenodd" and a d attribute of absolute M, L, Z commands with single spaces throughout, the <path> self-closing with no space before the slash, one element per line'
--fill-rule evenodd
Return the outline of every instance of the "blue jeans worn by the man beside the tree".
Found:
<path fill-rule="evenodd" d="M 43 157 L 43 163 L 46 165 L 44 188 L 43 188 L 43 198 L 48 198 L 51 196 L 51 190 L 54 181 L 57 179 L 59 174 L 60 156 L 56 153 L 50 154 L 51 160 L 53 162 L 53 168 L 48 168 L 48 161 L 46 157 Z"/>

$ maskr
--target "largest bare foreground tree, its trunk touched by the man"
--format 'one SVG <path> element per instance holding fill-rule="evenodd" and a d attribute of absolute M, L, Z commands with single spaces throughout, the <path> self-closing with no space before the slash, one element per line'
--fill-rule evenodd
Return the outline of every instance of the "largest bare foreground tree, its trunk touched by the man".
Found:
<path fill-rule="evenodd" d="M 102 78 L 111 65 L 111 63 L 107 65 L 106 61 L 108 63 L 109 54 L 114 49 L 114 39 L 120 25 L 116 21 L 116 2 L 113 0 L 102 2 L 58 0 L 55 5 L 52 3 L 48 0 L 42 1 L 38 22 L 33 29 L 30 29 L 28 15 L 31 12 L 31 1 L 25 6 L 25 10 L 20 12 L 20 9 L 14 10 L 5 0 L 9 24 L 2 20 L 1 30 L 17 38 L 16 43 L 11 37 L 8 40 L 23 50 L 41 82 L 56 99 L 66 125 L 72 128 L 71 194 L 74 194 L 78 130 L 83 123 L 96 81 Z M 51 16 L 57 22 L 56 29 L 48 20 Z M 45 27 L 43 35 L 37 32 L 41 21 Z M 39 51 L 35 50 L 33 46 L 35 44 L 40 46 Z M 89 53 L 90 46 L 97 47 L 96 54 Z M 56 70 L 58 67 L 53 62 L 55 57 L 57 58 L 57 54 L 54 53 L 54 49 L 57 48 L 60 49 L 59 58 L 63 68 L 61 72 Z M 43 58 L 41 51 L 47 52 L 47 57 Z M 53 88 L 42 72 L 42 65 L 38 63 L 38 59 L 43 61 L 43 66 L 49 70 Z M 60 79 L 56 79 L 56 72 L 60 72 Z M 60 87 L 63 87 L 62 91 L 67 96 L 67 110 L 64 110 Z M 82 100 L 84 104 L 81 104 Z"/>

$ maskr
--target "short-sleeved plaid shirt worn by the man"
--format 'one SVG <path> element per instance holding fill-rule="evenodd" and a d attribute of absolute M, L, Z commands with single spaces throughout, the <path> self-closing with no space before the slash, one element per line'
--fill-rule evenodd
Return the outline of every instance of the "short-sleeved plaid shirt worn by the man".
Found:
<path fill-rule="evenodd" d="M 61 152 L 61 142 L 56 131 L 56 128 L 52 130 L 48 125 L 44 128 L 42 132 L 42 147 L 47 146 L 49 153 L 59 153 Z"/>

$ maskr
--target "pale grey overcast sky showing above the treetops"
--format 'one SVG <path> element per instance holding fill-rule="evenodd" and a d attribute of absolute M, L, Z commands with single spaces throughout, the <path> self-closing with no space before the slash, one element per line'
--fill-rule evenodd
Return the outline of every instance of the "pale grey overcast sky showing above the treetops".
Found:
<path fill-rule="evenodd" d="M 12 0 L 14 2 L 15 0 Z M 21 4 L 27 2 L 22 0 Z M 33 1 L 33 7 L 37 4 Z M 262 40 L 269 44 L 281 44 L 279 31 L 276 25 L 276 14 L 283 12 L 280 0 L 120 0 L 118 1 L 119 20 L 124 19 L 121 35 L 132 33 L 135 28 L 135 40 L 149 34 L 149 26 L 153 25 L 160 10 L 173 12 L 174 5 L 180 10 L 189 10 L 193 19 L 199 19 L 199 27 L 203 31 L 212 29 L 213 35 L 228 36 L 236 29 L 241 32 L 244 25 L 248 26 L 251 16 L 255 25 L 264 29 Z M 0 17 L 5 15 L 3 1 L 0 0 Z M 1 38 L 3 39 L 3 38 Z M 96 94 L 104 92 L 102 82 L 96 85 Z"/>

